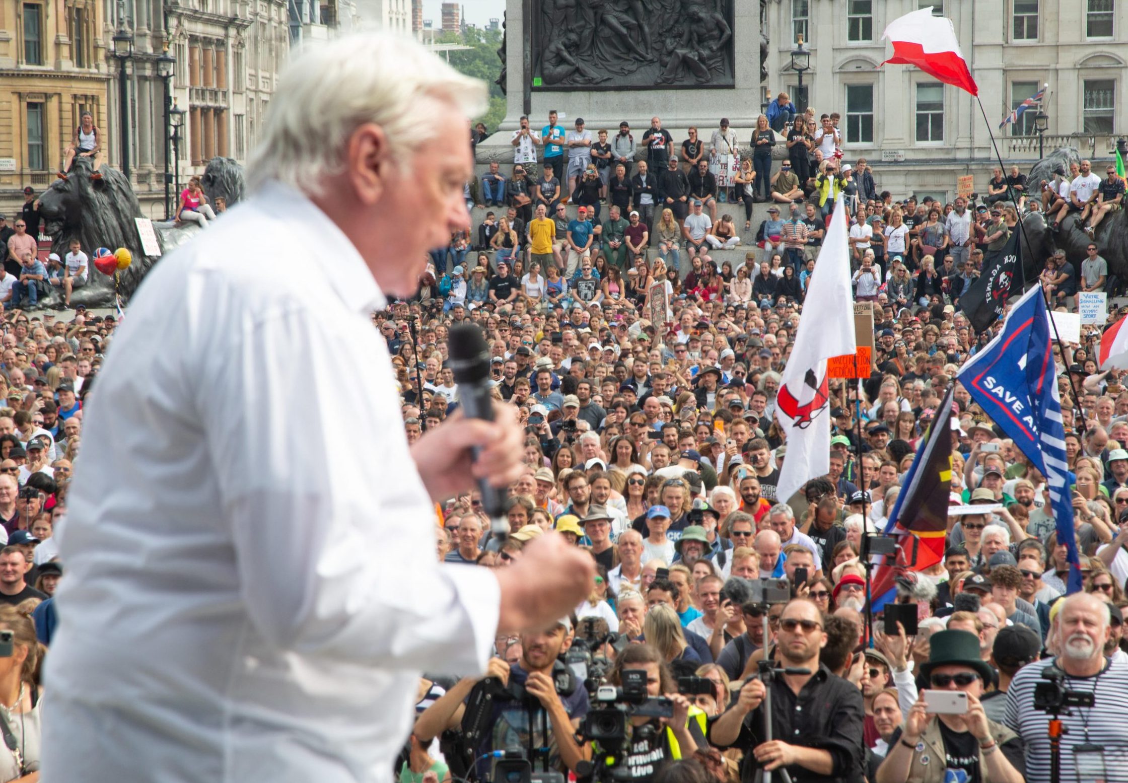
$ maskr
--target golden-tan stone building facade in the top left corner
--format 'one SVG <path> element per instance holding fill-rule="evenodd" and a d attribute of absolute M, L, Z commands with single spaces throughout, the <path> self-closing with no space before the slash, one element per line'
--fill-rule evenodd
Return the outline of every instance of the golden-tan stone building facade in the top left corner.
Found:
<path fill-rule="evenodd" d="M 0 0 L 0 204 L 46 187 L 82 112 L 107 116 L 104 6 L 99 0 Z"/>

